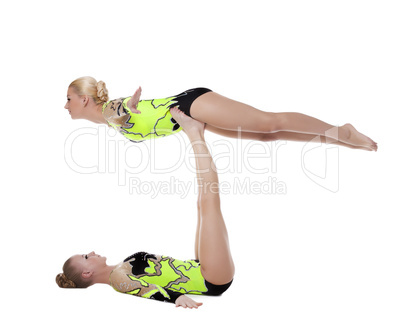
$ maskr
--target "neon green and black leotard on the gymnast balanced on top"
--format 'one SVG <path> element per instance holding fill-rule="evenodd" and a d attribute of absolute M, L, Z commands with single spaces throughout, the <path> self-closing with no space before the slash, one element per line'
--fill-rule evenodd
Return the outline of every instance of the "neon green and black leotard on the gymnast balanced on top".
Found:
<path fill-rule="evenodd" d="M 195 88 L 172 97 L 141 100 L 137 106 L 141 114 L 134 114 L 127 107 L 131 97 L 119 98 L 105 103 L 102 113 L 109 125 L 127 139 L 141 142 L 179 132 L 181 127 L 172 118 L 169 109 L 177 106 L 191 116 L 190 108 L 194 100 L 210 91 L 207 88 Z"/>

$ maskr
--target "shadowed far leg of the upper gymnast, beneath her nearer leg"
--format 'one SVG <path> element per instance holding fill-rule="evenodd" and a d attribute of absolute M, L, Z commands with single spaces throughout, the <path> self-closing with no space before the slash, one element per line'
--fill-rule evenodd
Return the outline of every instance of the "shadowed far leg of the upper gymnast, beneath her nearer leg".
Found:
<path fill-rule="evenodd" d="M 227 130 L 222 128 L 217 128 L 211 125 L 206 125 L 205 129 L 213 132 L 215 134 L 229 137 L 229 138 L 241 138 L 241 139 L 249 139 L 249 140 L 258 140 L 258 141 L 276 141 L 276 140 L 289 140 L 289 141 L 300 141 L 300 142 L 321 142 L 326 144 L 334 144 L 338 146 L 344 146 L 351 149 L 365 149 L 364 147 L 357 147 L 350 144 L 345 144 L 341 141 L 325 137 L 325 136 L 317 136 L 310 134 L 302 134 L 302 133 L 294 133 L 290 131 L 279 131 L 276 133 L 254 133 L 254 132 L 242 132 L 235 130 Z"/>

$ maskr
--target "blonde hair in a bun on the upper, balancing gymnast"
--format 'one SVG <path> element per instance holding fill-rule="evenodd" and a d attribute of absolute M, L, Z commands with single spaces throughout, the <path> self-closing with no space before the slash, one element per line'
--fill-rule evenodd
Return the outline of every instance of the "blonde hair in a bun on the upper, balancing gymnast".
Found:
<path fill-rule="evenodd" d="M 77 78 L 69 85 L 69 87 L 74 88 L 79 96 L 91 96 L 96 104 L 103 104 L 109 100 L 105 82 L 97 82 L 96 79 L 91 76 Z"/>

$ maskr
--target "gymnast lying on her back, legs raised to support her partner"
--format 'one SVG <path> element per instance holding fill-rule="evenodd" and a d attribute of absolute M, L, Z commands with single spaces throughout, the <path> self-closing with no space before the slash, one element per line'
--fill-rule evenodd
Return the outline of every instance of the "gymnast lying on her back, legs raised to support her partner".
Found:
<path fill-rule="evenodd" d="M 204 139 L 205 124 L 186 116 L 177 107 L 170 109 L 170 113 L 189 137 L 195 154 L 198 182 L 195 259 L 181 261 L 137 252 L 111 266 L 106 257 L 94 252 L 74 255 L 56 277 L 60 287 L 109 284 L 121 293 L 175 303 L 176 307 L 198 308 L 202 303 L 185 294 L 217 296 L 231 285 L 235 269 L 220 209 L 218 175 Z M 180 242 L 177 238 L 175 241 Z"/>

